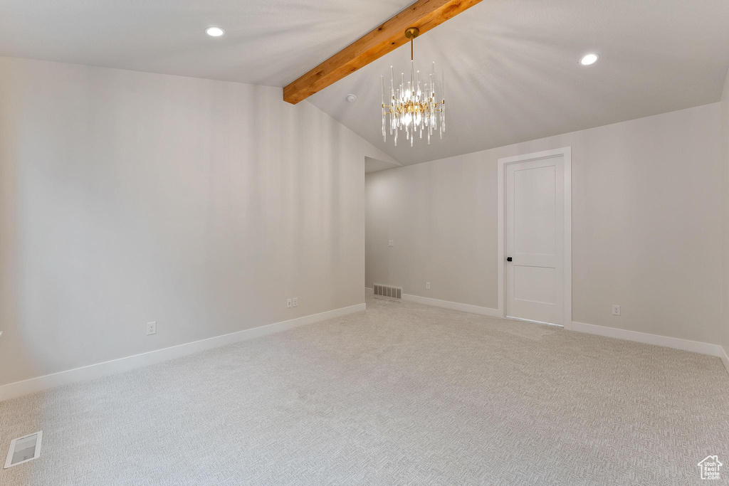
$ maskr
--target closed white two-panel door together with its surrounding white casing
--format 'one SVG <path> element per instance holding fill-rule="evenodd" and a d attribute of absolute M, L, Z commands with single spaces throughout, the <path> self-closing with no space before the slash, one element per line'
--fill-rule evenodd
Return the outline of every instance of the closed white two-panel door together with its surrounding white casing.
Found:
<path fill-rule="evenodd" d="M 566 147 L 499 159 L 499 313 L 504 317 L 571 327 L 570 152 Z"/>

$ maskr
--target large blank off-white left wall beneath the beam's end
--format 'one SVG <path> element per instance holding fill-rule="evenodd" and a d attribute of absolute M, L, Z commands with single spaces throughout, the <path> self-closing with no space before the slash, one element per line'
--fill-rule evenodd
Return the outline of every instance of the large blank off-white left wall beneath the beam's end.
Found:
<path fill-rule="evenodd" d="M 391 159 L 281 98 L 0 58 L 0 384 L 364 302 Z"/>

